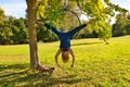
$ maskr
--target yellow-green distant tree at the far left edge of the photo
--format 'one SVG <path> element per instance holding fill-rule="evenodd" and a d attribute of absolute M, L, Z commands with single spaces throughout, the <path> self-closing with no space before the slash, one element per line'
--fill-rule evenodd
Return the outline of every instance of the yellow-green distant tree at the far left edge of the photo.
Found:
<path fill-rule="evenodd" d="M 12 26 L 12 16 L 5 16 L 4 11 L 0 8 L 0 44 L 1 45 L 9 45 L 13 44 L 10 39 L 12 34 L 11 26 Z"/>

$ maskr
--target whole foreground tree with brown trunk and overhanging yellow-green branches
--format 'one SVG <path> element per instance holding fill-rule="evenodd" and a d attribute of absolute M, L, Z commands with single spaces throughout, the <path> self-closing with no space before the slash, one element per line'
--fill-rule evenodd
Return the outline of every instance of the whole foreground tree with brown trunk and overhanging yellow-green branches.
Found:
<path fill-rule="evenodd" d="M 109 3 L 109 0 L 104 0 L 109 7 L 105 8 L 105 4 L 102 0 L 26 0 L 27 2 L 27 17 L 28 17 L 28 36 L 29 36 L 29 48 L 30 48 L 30 67 L 37 69 L 40 66 L 38 58 L 38 47 L 37 47 L 37 35 L 36 35 L 36 24 L 35 17 L 43 18 L 49 21 L 50 15 L 61 8 L 69 8 L 72 10 L 77 10 L 78 12 L 87 14 L 89 17 L 89 24 L 92 27 L 91 29 L 100 33 L 99 35 L 103 38 L 109 38 L 110 32 L 107 26 L 109 26 L 108 18 L 109 15 L 113 16 L 113 10 L 121 10 L 119 7 L 116 7 Z M 37 4 L 38 3 L 38 4 Z M 81 8 L 79 5 L 81 3 Z M 113 8 L 116 7 L 116 8 Z M 37 10 L 37 13 L 35 14 Z M 58 16 L 55 22 L 62 21 L 61 18 L 64 15 Z M 92 25 L 91 23 L 95 24 Z M 106 26 L 107 25 L 107 26 Z M 104 33 L 104 34 L 103 34 Z M 109 36 L 107 36 L 108 34 Z"/>

